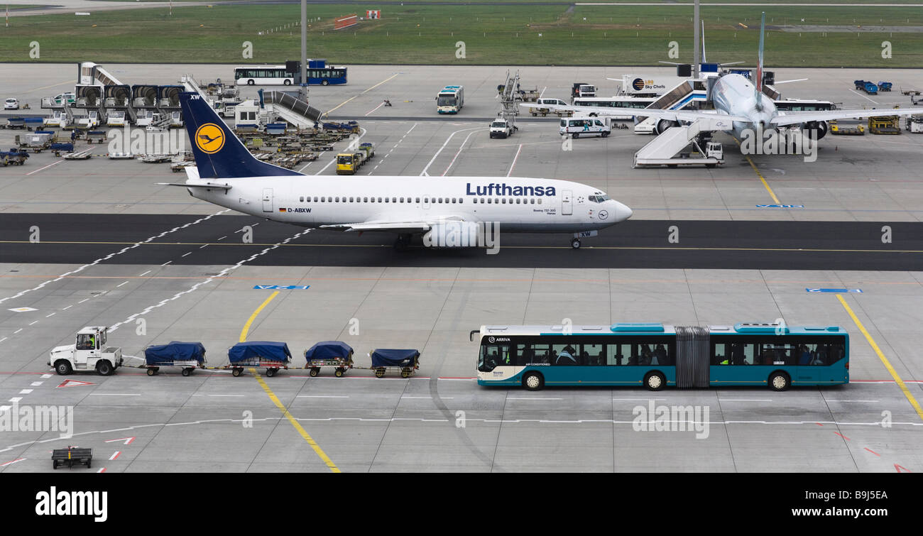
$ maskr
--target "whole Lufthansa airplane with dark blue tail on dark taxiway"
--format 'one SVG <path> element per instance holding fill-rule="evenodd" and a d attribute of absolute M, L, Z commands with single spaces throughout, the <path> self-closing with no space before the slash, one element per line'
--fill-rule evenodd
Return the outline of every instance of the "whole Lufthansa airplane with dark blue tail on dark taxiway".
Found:
<path fill-rule="evenodd" d="M 305 175 L 258 161 L 195 92 L 180 105 L 196 167 L 186 168 L 192 197 L 268 220 L 346 232 L 390 232 L 404 249 L 425 244 L 473 245 L 447 234 L 567 232 L 571 247 L 631 217 L 631 209 L 596 188 L 517 177 L 341 177 Z M 458 237 L 456 237 L 458 238 Z M 481 244 L 481 243 L 479 243 Z"/>

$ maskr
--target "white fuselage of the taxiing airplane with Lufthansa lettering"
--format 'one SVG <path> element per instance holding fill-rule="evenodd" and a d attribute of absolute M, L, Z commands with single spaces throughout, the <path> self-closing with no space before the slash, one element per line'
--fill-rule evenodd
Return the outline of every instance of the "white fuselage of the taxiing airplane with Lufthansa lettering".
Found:
<path fill-rule="evenodd" d="M 231 188 L 188 188 L 193 197 L 304 227 L 355 221 L 497 222 L 501 232 L 583 232 L 631 216 L 596 188 L 517 177 L 267 176 L 198 179 Z"/>

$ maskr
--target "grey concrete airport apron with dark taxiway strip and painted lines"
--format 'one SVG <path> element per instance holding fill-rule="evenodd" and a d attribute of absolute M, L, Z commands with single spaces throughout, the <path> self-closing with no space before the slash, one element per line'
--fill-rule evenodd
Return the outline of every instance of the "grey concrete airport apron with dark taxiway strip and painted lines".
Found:
<path fill-rule="evenodd" d="M 34 76 L 6 76 L 22 68 L 0 66 L 0 77 L 13 80 L 14 96 L 33 102 L 32 112 L 76 74 L 74 66 L 29 66 Z M 181 72 L 226 77 L 230 67 L 110 70 L 126 83 L 166 84 Z M 557 97 L 571 80 L 605 85 L 622 72 L 669 71 L 520 70 L 523 86 Z M 485 121 L 499 110 L 494 95 L 505 72 L 355 66 L 349 85 L 312 88 L 310 98 L 331 116 L 358 119 L 363 141 L 376 143 L 377 167 L 361 174 L 564 178 L 603 188 L 634 209 L 631 220 L 585 239 L 579 251 L 565 235 L 523 234 L 501 235 L 497 255 L 422 247 L 399 254 L 387 236 L 223 211 L 155 185 L 183 180 L 165 165 L 42 153 L 0 168 L 0 411 L 72 407 L 75 434 L 0 431 L 0 472 L 51 470 L 48 451 L 66 445 L 92 447 L 92 470 L 107 472 L 923 470 L 923 414 L 911 402 L 923 398 L 923 137 L 828 136 L 816 162 L 754 156 L 752 166 L 726 139 L 723 168 L 632 170 L 631 156 L 650 138 L 630 131 L 563 150 L 557 119 L 549 119 L 489 139 Z M 807 85 L 785 90 L 844 106 L 909 104 L 897 91 L 874 104 L 854 93 L 862 74 L 812 73 Z M 895 88 L 923 88 L 923 72 L 874 74 Z M 433 120 L 435 91 L 454 81 L 466 88 L 465 108 Z M 383 99 L 394 105 L 378 107 Z M 0 147 L 16 134 L 0 130 Z M 332 175 L 331 158 L 301 169 Z M 784 204 L 803 208 L 767 207 Z M 246 225 L 252 243 L 241 238 Z M 473 381 L 468 334 L 482 325 L 776 318 L 845 328 L 851 382 L 785 392 L 530 392 Z M 219 368 L 188 377 L 127 366 L 105 377 L 54 375 L 48 351 L 84 326 L 109 326 L 126 364 L 140 363 L 131 358 L 150 344 L 200 340 Z M 286 341 L 293 368 L 233 377 L 220 367 L 239 339 Z M 420 369 L 402 379 L 367 368 L 343 378 L 294 368 L 305 364 L 306 348 L 330 339 L 354 347 L 357 367 L 370 365 L 366 353 L 375 348 L 415 348 Z M 639 430 L 636 417 L 649 404 L 697 408 L 707 426 Z M 181 459 L 176 445 L 186 448 Z"/>

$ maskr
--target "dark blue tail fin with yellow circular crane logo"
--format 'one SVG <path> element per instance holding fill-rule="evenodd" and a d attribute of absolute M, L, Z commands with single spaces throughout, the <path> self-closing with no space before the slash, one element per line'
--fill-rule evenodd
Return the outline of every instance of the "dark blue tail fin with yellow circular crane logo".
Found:
<path fill-rule="evenodd" d="M 233 179 L 302 174 L 258 161 L 201 94 L 184 91 L 179 103 L 199 177 Z"/>

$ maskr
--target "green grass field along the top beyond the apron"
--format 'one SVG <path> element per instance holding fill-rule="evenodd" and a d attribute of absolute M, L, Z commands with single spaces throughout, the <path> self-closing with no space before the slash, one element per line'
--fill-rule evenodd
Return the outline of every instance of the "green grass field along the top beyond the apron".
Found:
<path fill-rule="evenodd" d="M 665 6 L 308 6 L 308 51 L 337 64 L 655 65 L 691 61 L 691 9 Z M 332 18 L 381 8 L 382 18 L 332 30 Z M 703 6 L 712 61 L 755 62 L 761 9 Z M 0 61 L 280 63 L 299 52 L 297 5 L 174 6 L 12 18 Z M 319 18 L 319 20 L 318 20 Z M 585 20 L 584 20 L 585 18 Z M 804 21 L 802 22 L 802 19 Z M 741 24 L 746 25 L 745 29 Z M 912 7 L 773 6 L 767 24 L 923 26 Z M 286 28 L 288 26 L 288 28 Z M 30 42 L 41 57 L 30 59 Z M 667 55 L 678 43 L 679 58 Z M 881 43 L 893 57 L 881 57 Z M 242 57 L 252 42 L 252 59 Z M 456 57 L 464 42 L 465 57 Z M 923 66 L 923 33 L 768 31 L 766 62 L 781 66 Z"/>

